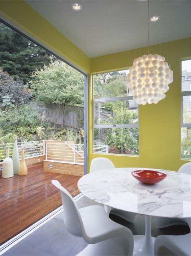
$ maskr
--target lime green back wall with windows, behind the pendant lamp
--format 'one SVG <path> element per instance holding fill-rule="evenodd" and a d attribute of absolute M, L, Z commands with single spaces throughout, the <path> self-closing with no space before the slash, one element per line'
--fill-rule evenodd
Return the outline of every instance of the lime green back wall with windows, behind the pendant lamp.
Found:
<path fill-rule="evenodd" d="M 91 59 L 91 74 L 122 70 L 133 60 L 148 53 L 148 48 L 123 51 Z M 187 161 L 181 160 L 181 59 L 191 57 L 191 38 L 150 47 L 150 53 L 166 58 L 174 71 L 174 80 L 166 98 L 158 104 L 139 107 L 139 157 L 107 155 L 116 167 L 147 167 L 178 170 Z M 88 98 L 88 167 L 92 154 L 92 91 Z"/>

